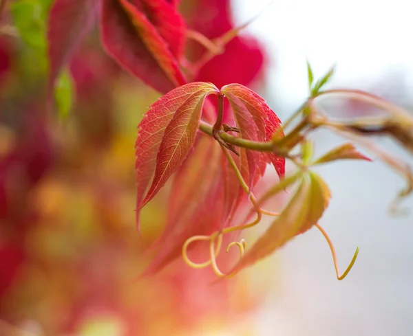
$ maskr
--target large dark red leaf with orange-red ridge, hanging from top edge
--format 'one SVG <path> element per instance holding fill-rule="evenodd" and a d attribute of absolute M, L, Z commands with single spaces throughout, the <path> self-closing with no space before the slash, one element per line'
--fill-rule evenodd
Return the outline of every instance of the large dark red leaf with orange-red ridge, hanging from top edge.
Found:
<path fill-rule="evenodd" d="M 156 27 L 127 0 L 103 0 L 101 34 L 107 53 L 153 89 L 165 93 L 185 83 Z"/>

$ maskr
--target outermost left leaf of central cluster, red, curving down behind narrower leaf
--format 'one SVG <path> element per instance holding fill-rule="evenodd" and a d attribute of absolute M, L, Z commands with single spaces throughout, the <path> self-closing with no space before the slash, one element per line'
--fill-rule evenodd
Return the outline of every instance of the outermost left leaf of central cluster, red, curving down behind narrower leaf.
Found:
<path fill-rule="evenodd" d="M 156 158 L 158 150 L 162 143 L 162 138 L 176 112 L 182 106 L 189 107 L 189 102 L 195 104 L 194 94 L 198 95 L 198 103 L 204 99 L 204 96 L 215 87 L 208 83 L 193 82 L 187 85 L 182 85 L 173 91 L 162 96 L 157 102 L 153 103 L 149 111 L 145 114 L 142 122 L 138 125 L 138 137 L 136 139 L 136 223 L 139 227 L 139 209 L 142 206 L 142 199 L 145 197 L 145 192 L 149 186 L 153 174 L 156 170 Z M 215 88 L 216 90 L 216 88 Z M 202 104 L 201 104 L 202 105 Z M 196 105 L 195 105 L 196 107 Z M 187 111 L 191 113 L 191 111 Z M 182 119 L 182 118 L 181 118 Z M 188 120 L 189 121 L 189 120 Z M 191 125 L 197 126 L 196 120 Z M 170 129 L 170 128 L 169 128 Z M 173 134 L 172 134 L 173 135 Z M 167 139 L 172 141 L 173 139 Z M 165 150 L 165 142 L 163 147 Z M 187 148 L 190 149 L 190 148 Z M 182 157 L 182 160 L 184 157 Z M 159 168 L 158 168 L 159 170 Z M 158 172 L 159 174 L 159 172 Z M 155 181 L 155 180 L 154 180 Z"/>

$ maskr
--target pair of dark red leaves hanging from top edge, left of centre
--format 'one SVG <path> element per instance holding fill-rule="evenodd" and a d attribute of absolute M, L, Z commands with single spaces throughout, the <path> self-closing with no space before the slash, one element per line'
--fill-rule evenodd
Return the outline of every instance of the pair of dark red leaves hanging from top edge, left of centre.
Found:
<path fill-rule="evenodd" d="M 166 93 L 186 81 L 179 68 L 185 25 L 165 0 L 54 1 L 48 25 L 50 84 L 100 22 L 103 45 L 122 67 L 147 85 Z"/>

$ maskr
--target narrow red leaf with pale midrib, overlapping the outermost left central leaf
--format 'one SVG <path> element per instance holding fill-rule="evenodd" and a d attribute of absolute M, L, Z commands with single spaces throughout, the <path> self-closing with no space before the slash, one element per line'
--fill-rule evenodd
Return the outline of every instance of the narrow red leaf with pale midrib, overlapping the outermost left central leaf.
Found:
<path fill-rule="evenodd" d="M 155 176 L 141 208 L 156 195 L 187 157 L 198 132 L 204 99 L 213 91 L 218 92 L 218 89 L 210 83 L 204 83 L 202 89 L 193 92 L 175 111 L 162 137 L 156 157 Z"/>

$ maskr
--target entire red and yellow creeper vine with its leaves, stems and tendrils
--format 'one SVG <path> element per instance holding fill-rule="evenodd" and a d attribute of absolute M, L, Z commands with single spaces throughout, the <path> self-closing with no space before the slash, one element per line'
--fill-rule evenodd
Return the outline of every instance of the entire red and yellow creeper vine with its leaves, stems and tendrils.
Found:
<path fill-rule="evenodd" d="M 334 68 L 315 80 L 307 64 L 309 98 L 282 124 L 249 88 L 260 77 L 265 56 L 257 41 L 238 34 L 241 28 L 233 26 L 227 1 L 198 1 L 195 12 L 208 12 L 208 22 L 201 15 L 200 20 L 195 15 L 186 21 L 179 3 L 55 0 L 47 21 L 49 100 L 62 71 L 96 26 L 106 54 L 163 95 L 138 125 L 135 144 L 138 229 L 140 210 L 171 179 L 167 224 L 149 247 L 156 255 L 146 273 L 160 271 L 182 254 L 191 267 L 211 266 L 220 277 L 233 276 L 315 226 L 328 241 L 341 280 L 358 249 L 340 276 L 332 243 L 318 223 L 328 207 L 330 190 L 312 167 L 341 159 L 372 161 L 357 150 L 354 144 L 359 144 L 407 180 L 399 198 L 407 196 L 413 190 L 412 170 L 368 137 L 388 135 L 413 153 L 412 115 L 363 91 L 324 90 Z M 27 27 L 19 27 L 22 36 L 23 28 Z M 238 63 L 235 58 L 240 58 Z M 248 64 L 247 69 L 240 71 L 240 64 Z M 335 120 L 317 104 L 329 96 L 359 100 L 386 114 Z M 317 128 L 328 128 L 351 142 L 315 159 L 308 135 Z M 295 166 L 287 175 L 286 159 Z M 255 187 L 268 166 L 275 169 L 278 182 L 257 198 Z M 262 208 L 286 190 L 292 190 L 290 199 L 279 213 Z M 242 203 L 249 204 L 244 212 Z M 228 271 L 220 271 L 217 258 L 223 236 L 235 236 L 259 224 L 263 216 L 275 216 L 267 231 L 251 248 L 246 248 L 245 240 L 230 243 L 227 251 L 237 246 L 241 258 Z M 198 241 L 209 243 L 209 259 L 202 263 L 187 254 Z"/>

